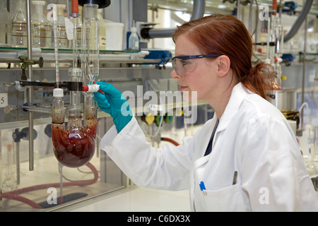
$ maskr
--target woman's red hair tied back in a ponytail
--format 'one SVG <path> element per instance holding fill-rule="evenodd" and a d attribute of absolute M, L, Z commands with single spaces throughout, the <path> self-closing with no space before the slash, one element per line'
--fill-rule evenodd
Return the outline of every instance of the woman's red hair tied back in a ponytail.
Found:
<path fill-rule="evenodd" d="M 252 67 L 253 42 L 244 23 L 234 16 L 212 15 L 177 27 L 172 39 L 185 34 L 201 54 L 228 56 L 231 69 L 246 88 L 267 99 L 271 90 L 271 66 L 261 62 Z"/>

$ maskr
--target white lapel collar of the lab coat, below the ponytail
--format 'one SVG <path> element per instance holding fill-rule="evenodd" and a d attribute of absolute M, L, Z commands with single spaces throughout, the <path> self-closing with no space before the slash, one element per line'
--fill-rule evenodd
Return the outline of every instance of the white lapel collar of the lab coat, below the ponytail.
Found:
<path fill-rule="evenodd" d="M 247 90 L 247 88 L 245 88 L 245 86 L 242 85 L 242 83 L 238 83 L 234 86 L 228 105 L 225 107 L 223 115 L 220 118 L 220 122 L 218 124 L 218 129 L 216 129 L 216 133 L 218 133 L 218 131 L 223 131 L 228 127 L 228 124 L 230 123 L 232 118 L 235 116 L 235 114 L 237 114 L 237 111 L 242 101 L 249 93 L 252 92 Z M 216 115 L 213 118 L 216 118 Z M 216 121 L 217 119 L 214 120 Z"/>

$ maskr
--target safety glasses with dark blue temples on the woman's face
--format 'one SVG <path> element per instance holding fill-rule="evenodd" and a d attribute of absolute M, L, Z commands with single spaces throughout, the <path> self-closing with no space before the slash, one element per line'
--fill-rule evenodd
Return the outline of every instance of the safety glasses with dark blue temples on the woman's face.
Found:
<path fill-rule="evenodd" d="M 206 55 L 192 55 L 192 56 L 179 56 L 179 57 L 173 57 L 171 59 L 172 61 L 172 67 L 175 69 L 175 72 L 179 76 L 185 76 L 188 73 L 192 73 L 194 69 L 196 68 L 195 61 L 192 61 L 192 59 L 201 59 L 204 57 L 220 57 L 220 54 L 206 54 Z"/>

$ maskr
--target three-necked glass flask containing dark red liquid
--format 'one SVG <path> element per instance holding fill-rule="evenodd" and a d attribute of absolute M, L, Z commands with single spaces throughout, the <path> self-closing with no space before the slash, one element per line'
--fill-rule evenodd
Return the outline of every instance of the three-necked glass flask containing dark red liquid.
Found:
<path fill-rule="evenodd" d="M 95 153 L 95 136 L 97 129 L 97 108 L 94 102 L 86 102 L 84 126 L 81 118 L 81 107 L 71 103 L 67 109 L 68 124 L 65 125 L 65 108 L 62 100 L 62 89 L 54 92 L 52 106 L 52 143 L 54 155 L 66 167 L 86 165 Z M 79 93 L 79 92 L 78 92 Z M 71 95 L 73 95 L 71 93 Z M 89 94 L 92 95 L 92 94 Z M 93 100 L 93 98 L 88 98 Z M 76 101 L 74 99 L 73 101 Z M 76 103 L 78 104 L 78 103 Z"/>

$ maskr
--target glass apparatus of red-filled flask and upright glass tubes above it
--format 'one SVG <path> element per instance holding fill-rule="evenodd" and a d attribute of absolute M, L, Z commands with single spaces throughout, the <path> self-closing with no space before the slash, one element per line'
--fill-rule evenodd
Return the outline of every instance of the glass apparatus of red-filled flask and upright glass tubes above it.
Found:
<path fill-rule="evenodd" d="M 69 70 L 71 81 L 93 84 L 99 73 L 99 21 L 98 5 L 85 4 L 83 10 L 83 28 L 81 56 L 78 53 L 77 22 L 73 18 L 73 68 Z M 78 68 L 81 59 L 81 69 Z M 83 74 L 82 74 L 83 73 Z M 67 109 L 69 124 L 64 123 L 64 103 L 52 108 L 52 141 L 54 154 L 62 165 L 81 167 L 86 165 L 95 153 L 97 129 L 97 107 L 93 93 L 84 95 L 84 126 L 81 119 L 81 92 L 70 92 L 70 104 Z M 55 114 L 58 113 L 59 114 Z M 59 116 L 56 118 L 55 116 Z M 61 120 L 62 118 L 62 120 Z"/>

